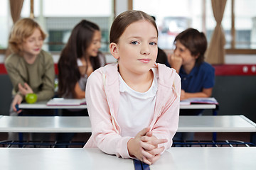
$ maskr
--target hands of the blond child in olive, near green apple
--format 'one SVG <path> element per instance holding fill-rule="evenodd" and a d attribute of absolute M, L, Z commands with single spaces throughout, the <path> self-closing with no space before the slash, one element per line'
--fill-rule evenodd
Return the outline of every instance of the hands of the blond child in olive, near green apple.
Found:
<path fill-rule="evenodd" d="M 22 86 L 20 83 L 18 84 L 18 92 L 19 94 L 16 94 L 16 96 L 14 96 L 14 100 L 11 103 L 11 107 L 14 109 L 14 111 L 16 111 L 17 113 L 21 113 L 21 110 L 17 111 L 16 109 L 16 104 L 21 104 L 23 97 L 22 96 L 26 96 L 26 94 L 33 94 L 33 90 L 31 89 L 31 87 L 27 84 L 24 83 L 24 86 Z M 21 96 L 22 95 L 22 96 Z"/>

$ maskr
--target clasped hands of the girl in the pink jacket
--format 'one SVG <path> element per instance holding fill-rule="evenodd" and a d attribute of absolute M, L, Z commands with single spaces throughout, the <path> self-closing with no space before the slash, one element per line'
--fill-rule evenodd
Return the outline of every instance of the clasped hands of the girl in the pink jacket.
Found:
<path fill-rule="evenodd" d="M 164 147 L 158 147 L 159 144 L 166 143 L 166 139 L 157 139 L 150 128 L 144 128 L 142 131 L 128 141 L 127 147 L 130 156 L 136 157 L 146 164 L 153 164 L 160 158 Z"/>

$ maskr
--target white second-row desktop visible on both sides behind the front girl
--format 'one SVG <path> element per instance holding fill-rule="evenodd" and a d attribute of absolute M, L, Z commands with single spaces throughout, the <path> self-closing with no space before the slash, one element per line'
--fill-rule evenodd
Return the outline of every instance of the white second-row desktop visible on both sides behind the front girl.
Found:
<path fill-rule="evenodd" d="M 91 132 L 87 116 L 9 116 L 0 118 L 0 132 Z M 244 115 L 181 115 L 178 132 L 256 132 Z"/>

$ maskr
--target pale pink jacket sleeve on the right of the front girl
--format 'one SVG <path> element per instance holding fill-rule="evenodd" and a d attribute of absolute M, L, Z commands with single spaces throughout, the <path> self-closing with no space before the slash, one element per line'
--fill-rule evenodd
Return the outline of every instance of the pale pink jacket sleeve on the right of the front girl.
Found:
<path fill-rule="evenodd" d="M 166 91 L 159 91 L 162 93 Z M 158 139 L 167 139 L 168 142 L 159 145 L 168 149 L 172 145 L 172 138 L 174 137 L 178 129 L 178 116 L 180 109 L 180 95 L 181 95 L 181 79 L 178 74 L 174 73 L 174 84 L 171 87 L 171 91 L 167 96 L 167 102 L 160 108 L 159 117 L 154 124 L 151 132 Z"/>

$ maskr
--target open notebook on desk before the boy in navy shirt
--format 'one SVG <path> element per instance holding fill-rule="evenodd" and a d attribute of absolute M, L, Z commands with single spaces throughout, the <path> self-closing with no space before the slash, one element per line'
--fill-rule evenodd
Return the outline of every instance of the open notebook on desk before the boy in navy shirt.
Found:
<path fill-rule="evenodd" d="M 191 104 L 215 104 L 218 105 L 218 101 L 215 98 L 188 98 L 180 102 L 181 105 Z"/>

